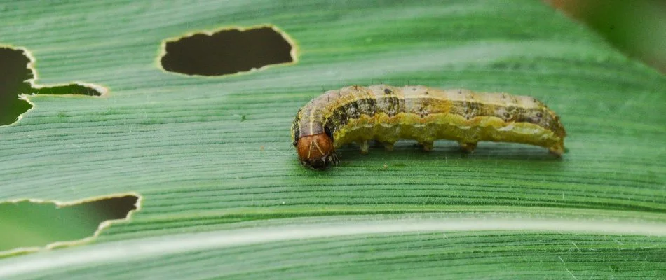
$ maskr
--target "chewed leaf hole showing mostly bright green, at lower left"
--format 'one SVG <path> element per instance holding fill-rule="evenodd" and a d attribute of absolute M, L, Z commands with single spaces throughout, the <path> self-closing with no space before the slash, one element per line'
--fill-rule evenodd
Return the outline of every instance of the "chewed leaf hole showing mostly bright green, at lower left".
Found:
<path fill-rule="evenodd" d="M 92 236 L 100 223 L 126 218 L 139 197 L 127 195 L 57 208 L 53 203 L 0 203 L 0 252 Z"/>

